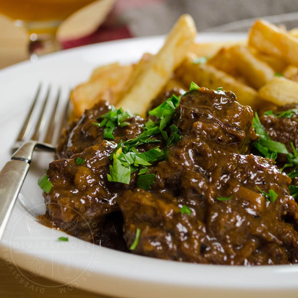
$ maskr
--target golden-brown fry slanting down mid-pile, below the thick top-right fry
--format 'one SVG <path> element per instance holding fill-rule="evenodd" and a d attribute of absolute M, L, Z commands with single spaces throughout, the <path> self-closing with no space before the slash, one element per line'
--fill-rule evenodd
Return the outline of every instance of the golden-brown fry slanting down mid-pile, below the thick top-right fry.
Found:
<path fill-rule="evenodd" d="M 259 89 L 274 77 L 274 70 L 259 60 L 248 47 L 233 46 L 231 56 L 240 74 L 255 89 Z"/>

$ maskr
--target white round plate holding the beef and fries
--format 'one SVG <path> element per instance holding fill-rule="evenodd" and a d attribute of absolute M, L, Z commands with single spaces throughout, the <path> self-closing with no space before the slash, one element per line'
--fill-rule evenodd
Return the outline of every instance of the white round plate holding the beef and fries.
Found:
<path fill-rule="evenodd" d="M 231 40 L 239 34 L 201 34 L 198 40 Z M 156 52 L 163 37 L 129 39 L 55 53 L 35 63 L 24 62 L 0 71 L 0 168 L 9 159 L 11 145 L 39 81 L 68 88 L 87 79 L 99 65 L 136 62 L 146 51 Z M 104 247 L 45 227 L 35 215 L 45 210 L 37 179 L 53 155 L 34 153 L 32 167 L 14 206 L 0 243 L 0 256 L 17 267 L 14 275 L 31 290 L 46 292 L 30 281 L 41 275 L 65 285 L 130 298 L 142 297 L 297 297 L 298 266 L 229 267 L 158 260 Z M 26 268 L 31 274 L 24 274 Z M 22 276 L 24 274 L 25 276 Z M 27 287 L 29 287 L 27 286 Z"/>

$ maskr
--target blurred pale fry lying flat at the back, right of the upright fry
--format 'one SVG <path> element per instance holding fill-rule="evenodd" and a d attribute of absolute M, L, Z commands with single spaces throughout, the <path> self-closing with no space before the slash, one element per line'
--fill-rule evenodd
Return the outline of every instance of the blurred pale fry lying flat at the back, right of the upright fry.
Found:
<path fill-rule="evenodd" d="M 245 45 L 247 41 L 245 39 L 239 41 L 220 41 L 220 42 L 210 42 L 210 43 L 194 43 L 189 52 L 196 54 L 198 57 L 212 57 L 221 48 L 229 47 L 233 45 Z"/>

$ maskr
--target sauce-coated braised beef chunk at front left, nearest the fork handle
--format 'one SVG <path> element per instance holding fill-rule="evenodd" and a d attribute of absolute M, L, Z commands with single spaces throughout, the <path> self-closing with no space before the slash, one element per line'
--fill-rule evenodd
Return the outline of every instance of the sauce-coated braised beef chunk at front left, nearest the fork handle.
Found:
<path fill-rule="evenodd" d="M 107 181 L 108 157 L 116 146 L 114 142 L 103 141 L 74 154 L 73 158 L 50 163 L 47 176 L 53 186 L 49 194 L 44 193 L 44 198 L 47 216 L 60 229 L 93 241 L 106 216 L 119 211 L 118 196 L 128 186 Z M 84 162 L 77 165 L 77 157 Z M 133 181 L 134 175 L 132 185 Z"/>

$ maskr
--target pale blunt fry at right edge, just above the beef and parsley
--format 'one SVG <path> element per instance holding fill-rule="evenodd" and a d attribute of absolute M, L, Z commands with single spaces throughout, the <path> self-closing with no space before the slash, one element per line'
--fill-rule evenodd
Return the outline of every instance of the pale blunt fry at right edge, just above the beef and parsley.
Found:
<path fill-rule="evenodd" d="M 259 96 L 280 106 L 298 104 L 298 83 L 284 77 L 275 77 L 260 88 Z"/>

